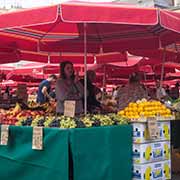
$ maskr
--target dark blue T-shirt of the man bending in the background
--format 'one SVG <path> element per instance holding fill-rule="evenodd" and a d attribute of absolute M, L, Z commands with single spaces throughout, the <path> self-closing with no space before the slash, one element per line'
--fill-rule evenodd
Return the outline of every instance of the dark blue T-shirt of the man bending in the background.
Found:
<path fill-rule="evenodd" d="M 38 89 L 38 94 L 37 94 L 37 103 L 43 104 L 45 102 L 48 101 L 48 98 L 44 96 L 44 94 L 42 93 L 42 89 L 43 87 L 47 88 L 47 92 L 48 94 L 50 93 L 51 90 L 51 84 L 48 80 L 43 80 L 40 84 L 39 84 L 39 89 Z"/>

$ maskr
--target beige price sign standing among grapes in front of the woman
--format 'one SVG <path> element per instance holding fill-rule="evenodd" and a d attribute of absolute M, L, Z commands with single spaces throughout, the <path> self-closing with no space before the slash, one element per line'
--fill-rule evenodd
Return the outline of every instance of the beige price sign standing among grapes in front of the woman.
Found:
<path fill-rule="evenodd" d="M 74 117 L 76 109 L 76 101 L 64 102 L 64 116 Z"/>

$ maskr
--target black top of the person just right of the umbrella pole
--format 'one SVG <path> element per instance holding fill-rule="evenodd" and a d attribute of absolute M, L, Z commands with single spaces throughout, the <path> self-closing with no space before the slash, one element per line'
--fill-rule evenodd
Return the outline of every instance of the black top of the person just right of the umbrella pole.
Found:
<path fill-rule="evenodd" d="M 80 82 L 84 86 L 84 79 L 81 79 Z M 88 91 L 88 96 L 87 96 L 87 110 L 89 112 L 92 112 L 94 108 L 100 107 L 101 104 L 99 101 L 96 99 L 96 86 L 92 84 L 89 80 L 87 80 L 87 91 Z M 84 99 L 83 99 L 84 101 Z M 84 103 L 83 103 L 84 105 Z"/>

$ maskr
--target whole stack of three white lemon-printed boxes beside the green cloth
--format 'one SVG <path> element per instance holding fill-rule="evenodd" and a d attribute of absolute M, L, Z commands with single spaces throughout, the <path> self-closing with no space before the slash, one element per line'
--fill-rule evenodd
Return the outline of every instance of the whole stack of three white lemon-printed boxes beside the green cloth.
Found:
<path fill-rule="evenodd" d="M 151 138 L 147 122 L 133 125 L 133 180 L 171 179 L 170 121 L 158 121 Z"/>

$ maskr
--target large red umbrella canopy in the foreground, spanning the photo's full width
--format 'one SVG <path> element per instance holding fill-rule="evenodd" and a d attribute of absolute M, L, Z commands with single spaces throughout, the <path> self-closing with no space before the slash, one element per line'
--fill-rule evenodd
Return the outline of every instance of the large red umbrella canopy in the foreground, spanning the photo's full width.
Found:
<path fill-rule="evenodd" d="M 23 18 L 22 18 L 23 17 Z M 46 52 L 155 49 L 177 41 L 178 13 L 118 3 L 66 2 L 0 15 L 0 47 Z"/>

